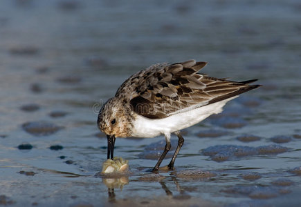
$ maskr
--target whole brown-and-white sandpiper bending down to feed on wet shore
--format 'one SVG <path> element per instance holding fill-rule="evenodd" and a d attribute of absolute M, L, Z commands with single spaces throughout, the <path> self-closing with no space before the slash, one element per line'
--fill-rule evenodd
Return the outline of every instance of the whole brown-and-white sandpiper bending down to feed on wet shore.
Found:
<path fill-rule="evenodd" d="M 152 172 L 158 171 L 171 148 L 171 133 L 179 138 L 168 168 L 184 139 L 180 130 L 199 123 L 243 92 L 258 88 L 257 79 L 230 81 L 197 73 L 207 62 L 157 63 L 129 77 L 98 114 L 98 128 L 107 135 L 107 159 L 113 159 L 116 137 L 165 136 L 165 149 Z"/>

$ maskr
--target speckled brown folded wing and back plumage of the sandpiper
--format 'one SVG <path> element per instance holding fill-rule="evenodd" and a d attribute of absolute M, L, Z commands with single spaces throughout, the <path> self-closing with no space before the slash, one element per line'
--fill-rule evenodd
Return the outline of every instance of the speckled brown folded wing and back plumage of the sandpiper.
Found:
<path fill-rule="evenodd" d="M 116 97 L 129 103 L 131 110 L 139 115 L 162 119 L 259 87 L 248 85 L 255 80 L 235 82 L 197 74 L 206 64 L 194 60 L 156 64 L 129 77 L 116 92 Z"/>

